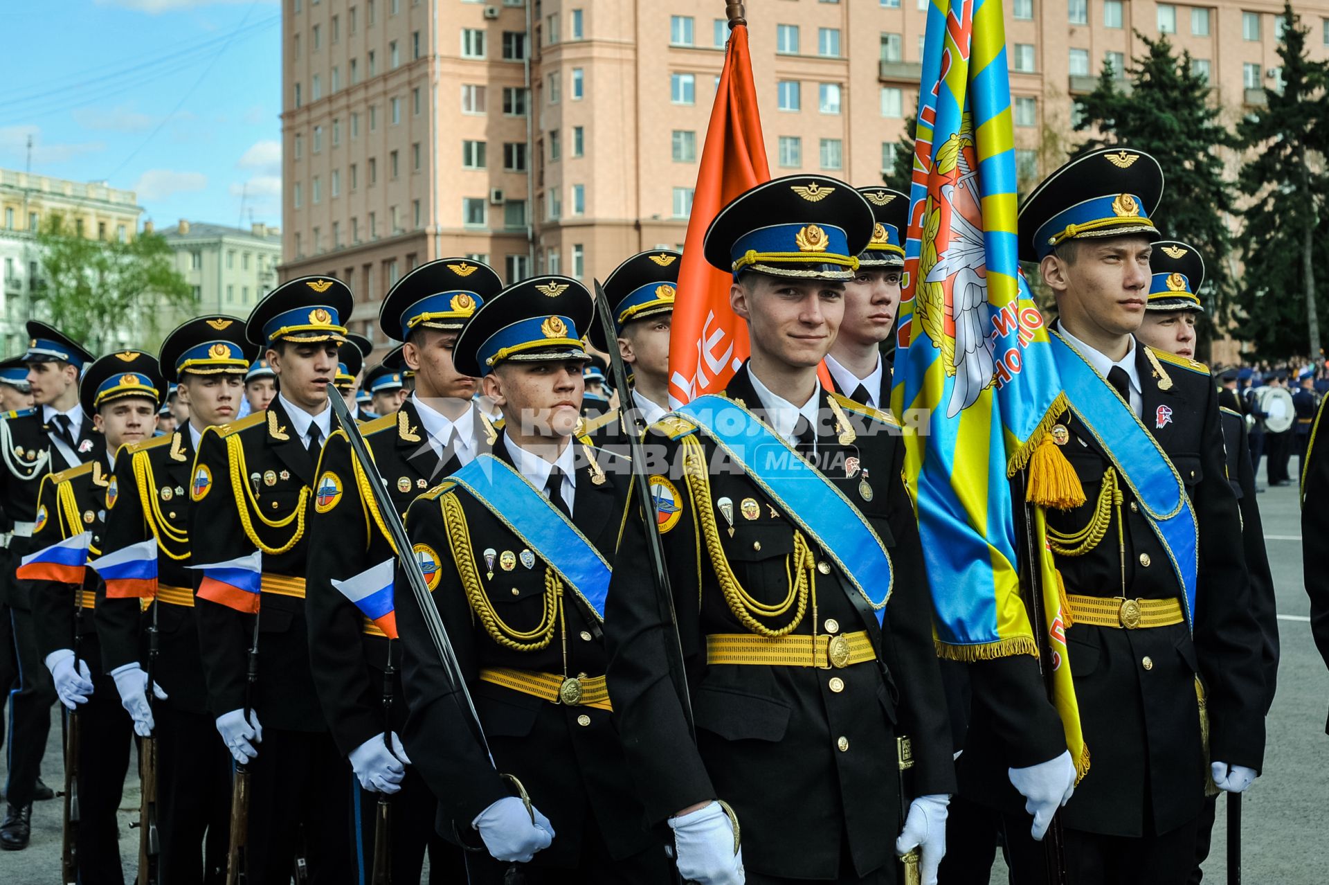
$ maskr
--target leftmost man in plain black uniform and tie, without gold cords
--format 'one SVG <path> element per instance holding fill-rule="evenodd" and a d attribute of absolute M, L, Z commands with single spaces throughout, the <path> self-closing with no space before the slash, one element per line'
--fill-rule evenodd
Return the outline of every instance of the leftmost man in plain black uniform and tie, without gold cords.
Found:
<path fill-rule="evenodd" d="M 51 732 L 51 704 L 56 691 L 37 654 L 32 621 L 32 594 L 13 569 L 36 550 L 32 542 L 37 492 L 47 473 L 66 470 L 100 457 L 102 435 L 78 404 L 78 371 L 92 353 L 57 330 L 28 320 L 28 384 L 33 409 L 0 420 L 0 501 L 12 524 L 9 571 L 4 575 L 5 602 L 19 658 L 19 690 L 9 695 L 9 780 L 5 816 L 0 821 L 0 848 L 19 850 L 31 837 L 32 800 Z"/>

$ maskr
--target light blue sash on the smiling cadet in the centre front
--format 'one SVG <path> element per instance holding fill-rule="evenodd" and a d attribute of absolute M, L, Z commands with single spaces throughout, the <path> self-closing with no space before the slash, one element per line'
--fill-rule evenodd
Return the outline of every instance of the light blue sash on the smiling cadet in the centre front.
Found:
<path fill-rule="evenodd" d="M 859 508 L 824 473 L 799 457 L 783 437 L 734 400 L 708 393 L 674 413 L 711 437 L 827 551 L 877 613 L 880 625 L 894 586 L 894 571 L 885 545 Z"/>

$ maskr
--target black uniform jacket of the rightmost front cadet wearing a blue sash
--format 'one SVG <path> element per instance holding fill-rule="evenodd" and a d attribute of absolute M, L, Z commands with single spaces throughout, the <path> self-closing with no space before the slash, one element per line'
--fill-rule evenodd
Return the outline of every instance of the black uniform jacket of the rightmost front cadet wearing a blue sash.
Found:
<path fill-rule="evenodd" d="M 1212 759 L 1259 769 L 1264 755 L 1263 640 L 1251 611 L 1213 383 L 1200 363 L 1162 351 L 1154 355 L 1158 369 L 1144 345 L 1136 344 L 1142 421 L 1176 468 L 1195 512 L 1197 601 L 1193 638 L 1184 622 L 1140 630 L 1071 622 L 1066 631 L 1090 769 L 1063 820 L 1073 829 L 1112 836 L 1146 835 L 1147 821 L 1151 833 L 1164 833 L 1200 812 L 1208 759 L 1196 674 L 1208 694 Z M 1062 453 L 1084 486 L 1086 502 L 1070 512 L 1050 510 L 1047 525 L 1050 532 L 1071 534 L 1090 524 L 1112 462 L 1074 415 L 1062 421 L 1069 429 Z M 1120 477 L 1118 486 L 1122 504 L 1110 510 L 1102 541 L 1080 555 L 1057 555 L 1066 593 L 1180 598 L 1167 550 L 1131 488 Z M 994 672 L 1018 672 L 1022 687 L 993 679 Z M 1006 768 L 1043 761 L 1065 749 L 1061 723 L 1045 700 L 1031 658 L 979 662 L 970 674 L 974 719 L 960 757 L 962 789 L 1017 811 L 1022 800 L 1009 785 Z"/>

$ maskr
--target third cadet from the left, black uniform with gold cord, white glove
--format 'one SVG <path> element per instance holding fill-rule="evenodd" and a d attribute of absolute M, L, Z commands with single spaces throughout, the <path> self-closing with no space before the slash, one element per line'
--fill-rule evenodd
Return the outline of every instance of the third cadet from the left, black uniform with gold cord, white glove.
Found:
<path fill-rule="evenodd" d="M 157 804 L 163 882 L 214 881 L 226 870 L 230 753 L 209 707 L 194 622 L 189 566 L 190 468 L 209 427 L 235 420 L 245 372 L 258 347 L 234 316 L 189 320 L 162 342 L 162 375 L 189 407 L 173 433 L 125 446 L 108 492 L 102 553 L 155 541 L 157 593 L 144 609 L 133 595 L 104 585 L 94 619 L 106 672 L 122 687 L 121 703 L 141 735 L 157 738 Z M 108 598 L 109 597 L 109 598 Z M 146 696 L 150 631 L 157 631 L 153 680 L 165 699 Z"/>

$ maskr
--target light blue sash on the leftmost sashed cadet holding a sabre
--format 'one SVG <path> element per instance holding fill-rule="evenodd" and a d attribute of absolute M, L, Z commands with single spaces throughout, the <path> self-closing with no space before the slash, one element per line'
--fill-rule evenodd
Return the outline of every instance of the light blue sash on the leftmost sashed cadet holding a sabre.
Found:
<path fill-rule="evenodd" d="M 603 621 L 609 563 L 544 492 L 492 454 L 481 454 L 449 476 L 444 488 L 449 485 L 465 489 L 485 505 Z"/>

